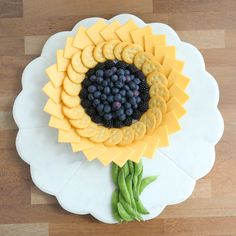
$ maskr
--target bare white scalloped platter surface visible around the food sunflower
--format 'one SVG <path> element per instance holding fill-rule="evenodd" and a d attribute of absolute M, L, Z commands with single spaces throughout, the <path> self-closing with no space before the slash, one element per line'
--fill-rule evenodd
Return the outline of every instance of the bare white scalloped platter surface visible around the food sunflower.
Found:
<path fill-rule="evenodd" d="M 122 14 L 108 22 L 125 23 L 132 18 L 139 26 L 146 24 L 134 15 Z M 47 97 L 42 87 L 48 81 L 45 68 L 56 62 L 56 50 L 64 48 L 68 35 L 79 26 L 89 27 L 99 18 L 80 21 L 72 31 L 51 36 L 39 58 L 24 70 L 22 91 L 14 108 L 19 127 L 16 147 L 20 157 L 30 165 L 32 179 L 42 191 L 56 196 L 60 205 L 76 214 L 92 214 L 105 223 L 115 223 L 111 214 L 114 185 L 110 166 L 88 162 L 82 153 L 73 153 L 68 144 L 57 143 L 57 131 L 48 127 L 49 115 L 43 112 Z M 152 160 L 143 158 L 144 176 L 159 175 L 141 195 L 152 219 L 171 204 L 187 199 L 196 180 L 206 175 L 215 160 L 215 144 L 223 134 L 223 119 L 217 108 L 219 90 L 214 78 L 205 70 L 200 52 L 182 42 L 168 25 L 151 23 L 156 34 L 166 34 L 167 44 L 175 45 L 177 58 L 184 60 L 184 74 L 191 78 L 185 107 L 188 111 L 180 123 L 182 131 L 170 137 L 169 147 L 159 149 Z"/>

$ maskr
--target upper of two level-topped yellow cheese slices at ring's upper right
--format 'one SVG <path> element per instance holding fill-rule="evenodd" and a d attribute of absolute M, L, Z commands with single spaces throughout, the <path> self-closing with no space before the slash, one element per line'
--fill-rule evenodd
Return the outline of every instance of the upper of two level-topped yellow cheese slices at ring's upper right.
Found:
<path fill-rule="evenodd" d="M 155 46 L 165 46 L 166 45 L 166 35 L 153 35 L 153 34 L 146 34 L 144 35 L 144 45 L 145 51 L 151 52 L 154 54 Z"/>

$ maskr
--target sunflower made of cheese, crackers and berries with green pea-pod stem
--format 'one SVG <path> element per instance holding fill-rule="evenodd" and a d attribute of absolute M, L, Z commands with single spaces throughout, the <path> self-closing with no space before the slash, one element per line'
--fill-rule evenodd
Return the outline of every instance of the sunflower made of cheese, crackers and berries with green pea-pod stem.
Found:
<path fill-rule="evenodd" d="M 141 158 L 152 159 L 156 149 L 169 145 L 189 99 L 190 79 L 182 74 L 176 47 L 149 25 L 98 20 L 67 37 L 55 57 L 42 88 L 49 126 L 73 152 L 112 165 L 113 217 L 142 220 L 149 212 L 139 196 L 157 177 L 143 178 Z"/>

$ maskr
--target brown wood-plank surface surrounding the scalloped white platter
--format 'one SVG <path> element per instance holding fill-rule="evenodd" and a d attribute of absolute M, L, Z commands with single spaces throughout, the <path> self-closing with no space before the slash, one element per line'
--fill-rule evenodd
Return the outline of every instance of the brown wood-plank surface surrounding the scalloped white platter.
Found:
<path fill-rule="evenodd" d="M 220 87 L 225 133 L 212 172 L 192 197 L 145 223 L 105 225 L 64 211 L 32 183 L 15 149 L 12 104 L 21 74 L 49 35 L 90 16 L 134 13 L 163 22 L 196 45 Z M 235 0 L 0 0 L 0 236 L 236 235 L 236 1 Z"/>

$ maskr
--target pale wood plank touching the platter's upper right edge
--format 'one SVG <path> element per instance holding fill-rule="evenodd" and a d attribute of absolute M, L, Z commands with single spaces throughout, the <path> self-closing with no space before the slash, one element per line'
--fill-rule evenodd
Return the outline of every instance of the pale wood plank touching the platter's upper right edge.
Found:
<path fill-rule="evenodd" d="M 201 49 L 225 48 L 224 30 L 187 30 L 177 33 L 182 41 Z"/>

